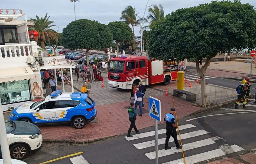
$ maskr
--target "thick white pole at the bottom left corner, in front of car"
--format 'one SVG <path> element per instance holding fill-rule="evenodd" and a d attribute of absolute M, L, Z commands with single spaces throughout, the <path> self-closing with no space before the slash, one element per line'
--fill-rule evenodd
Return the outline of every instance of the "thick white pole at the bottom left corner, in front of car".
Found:
<path fill-rule="evenodd" d="M 5 123 L 4 123 L 4 113 L 2 108 L 2 103 L 0 99 L 0 145 L 1 145 L 1 151 L 2 151 L 2 157 L 4 164 L 12 164 L 11 156 L 10 156 L 10 149 L 9 144 L 7 140 L 7 134 L 5 129 Z"/>

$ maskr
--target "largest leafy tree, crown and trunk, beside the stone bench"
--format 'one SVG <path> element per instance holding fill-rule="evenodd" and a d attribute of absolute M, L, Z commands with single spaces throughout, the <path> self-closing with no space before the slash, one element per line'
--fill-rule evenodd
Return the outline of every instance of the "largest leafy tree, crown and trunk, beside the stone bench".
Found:
<path fill-rule="evenodd" d="M 242 13 L 242 14 L 241 14 Z M 182 8 L 168 14 L 151 29 L 147 40 L 151 58 L 168 60 L 177 58 L 204 59 L 200 68 L 202 89 L 201 106 L 210 105 L 207 100 L 205 74 L 211 59 L 220 51 L 255 48 L 256 11 L 250 4 L 240 1 L 213 1 L 197 7 Z"/>

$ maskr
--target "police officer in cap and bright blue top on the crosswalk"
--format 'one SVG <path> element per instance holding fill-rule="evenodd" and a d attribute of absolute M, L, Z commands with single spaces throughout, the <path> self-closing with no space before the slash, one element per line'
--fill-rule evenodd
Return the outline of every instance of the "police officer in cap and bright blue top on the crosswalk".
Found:
<path fill-rule="evenodd" d="M 167 113 L 166 116 L 164 117 L 164 121 L 166 122 L 165 150 L 171 149 L 168 146 L 169 139 L 171 136 L 174 139 L 176 148 L 181 149 L 182 146 L 179 145 L 178 143 L 177 132 L 176 132 L 176 129 L 178 128 L 178 126 L 176 125 L 175 117 L 173 115 L 175 113 L 175 108 L 171 108 L 170 110 L 171 110 L 170 113 Z"/>

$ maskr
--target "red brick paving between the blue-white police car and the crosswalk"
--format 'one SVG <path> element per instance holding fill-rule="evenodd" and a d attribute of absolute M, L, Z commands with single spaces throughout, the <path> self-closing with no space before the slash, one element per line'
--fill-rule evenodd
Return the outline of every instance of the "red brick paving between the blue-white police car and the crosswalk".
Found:
<path fill-rule="evenodd" d="M 170 107 L 173 107 L 173 101 L 171 96 L 159 96 L 157 98 L 161 100 L 162 107 L 162 121 L 159 123 L 163 123 L 163 117 L 165 113 L 169 112 Z M 200 109 L 179 98 L 174 97 L 174 100 L 178 118 L 187 116 Z M 40 129 L 43 133 L 43 139 L 88 141 L 127 133 L 130 125 L 127 106 L 129 106 L 130 102 L 96 105 L 98 111 L 96 117 L 97 122 L 89 123 L 83 129 L 74 129 L 70 125 L 41 126 Z M 154 125 L 154 119 L 149 117 L 148 114 L 149 100 L 144 99 L 144 104 L 143 116 L 138 116 L 136 120 L 138 129 Z"/>

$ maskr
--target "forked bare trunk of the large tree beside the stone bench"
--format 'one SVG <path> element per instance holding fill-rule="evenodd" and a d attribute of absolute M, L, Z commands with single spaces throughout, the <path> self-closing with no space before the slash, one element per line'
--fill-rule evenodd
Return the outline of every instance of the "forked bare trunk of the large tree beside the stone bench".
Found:
<path fill-rule="evenodd" d="M 199 73 L 200 75 L 200 82 L 201 82 L 201 97 L 202 97 L 202 102 L 199 104 L 199 106 L 206 107 L 210 105 L 210 102 L 207 99 L 207 94 L 206 94 L 206 83 L 205 83 L 205 74 L 207 67 L 210 65 L 210 61 L 212 58 L 207 58 L 205 61 L 205 64 L 199 68 L 199 61 L 196 60 L 196 72 Z"/>

